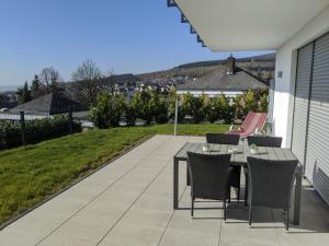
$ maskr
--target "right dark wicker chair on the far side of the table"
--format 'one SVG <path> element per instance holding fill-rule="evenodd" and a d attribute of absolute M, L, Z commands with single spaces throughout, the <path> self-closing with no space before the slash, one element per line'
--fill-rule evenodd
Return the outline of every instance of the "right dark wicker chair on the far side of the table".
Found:
<path fill-rule="evenodd" d="M 263 136 L 249 136 L 247 138 L 248 145 L 256 144 L 258 147 L 273 147 L 281 148 L 282 138 L 279 137 L 263 137 Z M 248 167 L 243 167 L 245 179 L 246 179 L 246 191 L 245 191 L 245 206 L 248 206 Z"/>

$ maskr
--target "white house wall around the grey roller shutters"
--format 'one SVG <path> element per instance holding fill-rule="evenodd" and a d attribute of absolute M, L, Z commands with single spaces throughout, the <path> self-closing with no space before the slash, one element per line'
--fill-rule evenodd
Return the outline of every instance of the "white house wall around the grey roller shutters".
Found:
<path fill-rule="evenodd" d="M 276 51 L 273 133 L 291 145 L 293 96 L 295 89 L 297 49 L 329 31 L 329 7 L 320 12 Z M 282 78 L 277 78 L 277 72 Z"/>

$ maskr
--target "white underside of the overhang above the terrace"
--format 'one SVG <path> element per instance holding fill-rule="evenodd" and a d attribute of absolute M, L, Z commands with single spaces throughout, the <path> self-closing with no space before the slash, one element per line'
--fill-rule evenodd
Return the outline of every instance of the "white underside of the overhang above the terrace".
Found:
<path fill-rule="evenodd" d="M 172 1 L 170 1 L 172 2 Z M 174 0 L 212 51 L 275 50 L 329 0 Z"/>

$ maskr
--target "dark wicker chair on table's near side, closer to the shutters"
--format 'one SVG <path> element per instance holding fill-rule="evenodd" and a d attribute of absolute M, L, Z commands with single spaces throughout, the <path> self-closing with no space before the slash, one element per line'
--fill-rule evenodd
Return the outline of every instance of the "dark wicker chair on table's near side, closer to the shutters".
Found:
<path fill-rule="evenodd" d="M 252 208 L 266 207 L 286 211 L 286 230 L 291 207 L 292 188 L 298 161 L 270 161 L 248 157 L 250 176 L 249 225 Z"/>

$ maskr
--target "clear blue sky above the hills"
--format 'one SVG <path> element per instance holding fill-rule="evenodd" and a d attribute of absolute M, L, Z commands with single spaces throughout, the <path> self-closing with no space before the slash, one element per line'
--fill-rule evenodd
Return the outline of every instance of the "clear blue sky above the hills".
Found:
<path fill-rule="evenodd" d="M 140 73 L 228 56 L 202 48 L 166 0 L 0 0 L 0 85 L 49 66 L 67 81 L 86 59 Z"/>

